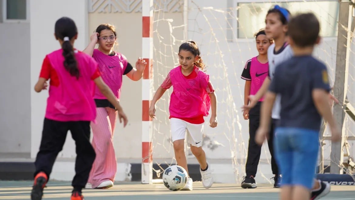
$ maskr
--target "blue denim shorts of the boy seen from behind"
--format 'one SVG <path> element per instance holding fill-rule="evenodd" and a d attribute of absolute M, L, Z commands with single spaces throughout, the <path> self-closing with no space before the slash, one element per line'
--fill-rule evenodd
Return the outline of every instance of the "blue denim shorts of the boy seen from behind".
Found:
<path fill-rule="evenodd" d="M 319 151 L 319 132 L 305 128 L 278 127 L 275 157 L 282 174 L 281 185 L 312 189 Z"/>

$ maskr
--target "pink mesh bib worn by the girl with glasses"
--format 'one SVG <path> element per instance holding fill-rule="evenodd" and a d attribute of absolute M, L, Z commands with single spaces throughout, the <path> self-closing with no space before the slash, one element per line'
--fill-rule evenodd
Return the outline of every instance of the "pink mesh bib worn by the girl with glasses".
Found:
<path fill-rule="evenodd" d="M 126 57 L 118 52 L 115 52 L 115 56 L 109 56 L 98 49 L 94 49 L 93 58 L 99 64 L 102 79 L 113 91 L 116 99 L 119 100 L 122 76 L 127 67 Z M 94 99 L 106 99 L 97 86 L 95 86 Z"/>

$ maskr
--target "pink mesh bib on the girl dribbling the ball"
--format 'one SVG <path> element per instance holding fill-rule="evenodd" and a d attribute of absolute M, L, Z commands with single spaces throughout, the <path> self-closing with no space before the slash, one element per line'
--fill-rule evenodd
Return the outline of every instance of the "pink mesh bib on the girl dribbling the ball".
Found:
<path fill-rule="evenodd" d="M 186 79 L 180 67 L 170 71 L 173 93 L 170 96 L 169 111 L 175 117 L 207 116 L 211 100 L 206 91 L 209 75 L 199 70 L 197 77 Z"/>

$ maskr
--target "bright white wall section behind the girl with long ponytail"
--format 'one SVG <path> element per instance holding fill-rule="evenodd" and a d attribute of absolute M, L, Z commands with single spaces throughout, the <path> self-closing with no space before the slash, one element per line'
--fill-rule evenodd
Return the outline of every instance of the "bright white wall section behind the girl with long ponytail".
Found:
<path fill-rule="evenodd" d="M 78 28 L 78 39 L 74 46 L 84 49 L 87 44 L 87 1 L 86 0 L 31 0 L 31 158 L 38 152 L 42 135 L 45 106 L 48 91 L 35 93 L 32 89 L 38 80 L 40 68 L 46 54 L 57 50 L 59 42 L 54 38 L 54 24 L 60 17 L 73 19 Z M 70 135 L 59 157 L 75 157 L 74 142 Z"/>

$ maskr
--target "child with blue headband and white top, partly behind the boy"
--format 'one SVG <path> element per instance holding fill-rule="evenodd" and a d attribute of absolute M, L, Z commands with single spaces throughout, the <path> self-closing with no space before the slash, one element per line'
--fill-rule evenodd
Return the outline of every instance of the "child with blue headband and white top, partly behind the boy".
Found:
<path fill-rule="evenodd" d="M 293 56 L 293 51 L 288 44 L 288 21 L 290 19 L 290 13 L 288 10 L 276 5 L 273 9 L 270 9 L 266 15 L 265 32 L 268 38 L 273 38 L 274 44 L 272 44 L 268 49 L 268 60 L 269 60 L 269 76 L 264 80 L 263 85 L 254 95 L 250 95 L 249 105 L 244 105 L 243 109 L 251 109 L 256 105 L 258 100 L 266 93 L 273 74 L 275 73 L 275 67 L 277 64 L 282 63 L 285 60 L 290 59 Z M 330 98 L 337 101 L 334 96 L 330 95 Z M 278 95 L 275 100 L 275 104 L 272 110 L 272 124 L 271 133 L 274 137 L 273 130 L 277 126 L 278 120 L 280 119 L 280 96 Z M 280 180 L 278 180 L 280 182 Z M 320 180 L 314 181 L 314 186 L 312 190 L 312 200 L 319 199 L 330 192 L 329 183 L 323 183 Z"/>

